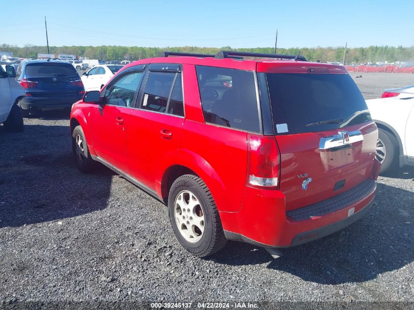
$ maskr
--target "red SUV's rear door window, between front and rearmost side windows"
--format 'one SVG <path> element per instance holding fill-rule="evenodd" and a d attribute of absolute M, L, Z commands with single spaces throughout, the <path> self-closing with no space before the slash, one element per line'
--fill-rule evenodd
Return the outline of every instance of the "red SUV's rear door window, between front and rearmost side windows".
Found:
<path fill-rule="evenodd" d="M 181 73 L 149 72 L 141 108 L 184 116 Z"/>

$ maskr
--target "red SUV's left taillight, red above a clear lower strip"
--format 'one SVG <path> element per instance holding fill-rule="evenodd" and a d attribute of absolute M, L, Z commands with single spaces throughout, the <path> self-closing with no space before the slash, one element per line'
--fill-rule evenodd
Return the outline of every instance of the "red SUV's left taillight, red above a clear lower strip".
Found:
<path fill-rule="evenodd" d="M 280 154 L 274 137 L 247 134 L 246 185 L 255 188 L 279 186 Z"/>

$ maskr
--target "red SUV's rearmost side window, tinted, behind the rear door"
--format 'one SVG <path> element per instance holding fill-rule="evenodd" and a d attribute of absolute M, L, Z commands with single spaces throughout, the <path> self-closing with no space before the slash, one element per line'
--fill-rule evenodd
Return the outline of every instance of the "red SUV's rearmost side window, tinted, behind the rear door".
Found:
<path fill-rule="evenodd" d="M 254 72 L 195 66 L 208 123 L 260 132 Z"/>

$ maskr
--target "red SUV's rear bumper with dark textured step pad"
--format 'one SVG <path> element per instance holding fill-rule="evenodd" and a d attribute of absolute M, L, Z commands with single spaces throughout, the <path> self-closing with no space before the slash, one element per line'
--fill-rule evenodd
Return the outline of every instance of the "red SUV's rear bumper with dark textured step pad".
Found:
<path fill-rule="evenodd" d="M 360 184 L 365 192 L 355 199 L 322 201 L 322 206 L 301 208 L 295 217 L 285 211 L 285 197 L 280 191 L 246 188 L 244 203 L 238 213 L 220 213 L 225 236 L 263 247 L 291 247 L 323 238 L 359 220 L 373 205 L 376 183 Z M 352 190 L 352 189 L 351 189 Z M 346 192 L 344 192 L 346 193 Z M 328 207 L 326 207 L 328 206 Z"/>

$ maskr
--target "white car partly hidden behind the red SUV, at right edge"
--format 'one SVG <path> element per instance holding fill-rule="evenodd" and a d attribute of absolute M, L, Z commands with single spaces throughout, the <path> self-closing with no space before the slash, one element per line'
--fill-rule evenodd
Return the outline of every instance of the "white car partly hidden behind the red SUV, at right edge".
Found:
<path fill-rule="evenodd" d="M 381 172 L 414 166 L 414 94 L 366 100 L 378 127 L 376 157 Z"/>

